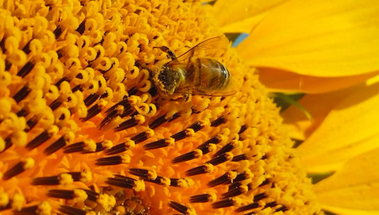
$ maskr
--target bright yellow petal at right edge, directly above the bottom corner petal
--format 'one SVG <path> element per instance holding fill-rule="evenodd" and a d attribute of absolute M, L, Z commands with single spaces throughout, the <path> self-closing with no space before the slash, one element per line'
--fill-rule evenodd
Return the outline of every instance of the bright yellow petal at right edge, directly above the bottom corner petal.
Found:
<path fill-rule="evenodd" d="M 298 147 L 308 171 L 334 171 L 351 157 L 379 146 L 378 92 L 376 84 L 345 95 Z"/>

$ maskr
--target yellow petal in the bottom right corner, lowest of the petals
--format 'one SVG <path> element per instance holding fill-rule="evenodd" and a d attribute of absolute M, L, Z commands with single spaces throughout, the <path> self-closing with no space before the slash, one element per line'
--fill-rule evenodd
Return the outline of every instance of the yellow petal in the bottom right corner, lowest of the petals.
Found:
<path fill-rule="evenodd" d="M 377 144 L 378 145 L 378 144 Z M 340 171 L 314 186 L 324 207 L 379 211 L 379 148 L 348 160 Z M 346 213 L 347 214 L 347 213 Z"/>

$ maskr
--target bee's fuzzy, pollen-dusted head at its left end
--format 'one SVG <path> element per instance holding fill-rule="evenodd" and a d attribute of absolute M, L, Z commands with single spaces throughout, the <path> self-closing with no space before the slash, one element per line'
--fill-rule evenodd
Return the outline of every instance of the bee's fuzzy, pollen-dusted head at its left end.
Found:
<path fill-rule="evenodd" d="M 154 76 L 154 83 L 164 94 L 172 95 L 179 85 L 180 75 L 175 69 L 163 66 Z"/>

